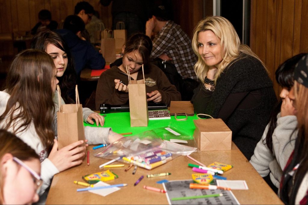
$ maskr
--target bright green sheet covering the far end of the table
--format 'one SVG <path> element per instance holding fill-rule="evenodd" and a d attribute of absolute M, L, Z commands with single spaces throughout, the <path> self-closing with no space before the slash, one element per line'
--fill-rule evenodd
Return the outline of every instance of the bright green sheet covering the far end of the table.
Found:
<path fill-rule="evenodd" d="M 178 119 L 183 119 L 186 116 L 177 116 Z M 149 120 L 148 127 L 131 127 L 129 112 L 114 112 L 106 114 L 105 124 L 103 127 L 111 127 L 112 131 L 117 133 L 126 133 L 132 132 L 131 135 L 136 135 L 144 131 L 152 130 L 154 128 L 167 127 L 170 125 L 186 132 L 189 136 L 193 136 L 195 130 L 195 125 L 193 120 L 198 119 L 196 114 L 195 116 L 188 116 L 185 121 L 175 120 L 174 116 L 171 116 L 171 120 Z M 96 126 L 84 123 L 85 126 Z M 125 135 L 125 136 L 131 136 Z"/>

